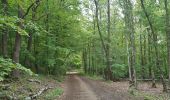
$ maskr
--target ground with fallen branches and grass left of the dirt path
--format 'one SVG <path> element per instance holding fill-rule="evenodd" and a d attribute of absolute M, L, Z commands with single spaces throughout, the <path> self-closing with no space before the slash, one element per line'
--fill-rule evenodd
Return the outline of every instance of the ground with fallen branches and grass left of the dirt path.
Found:
<path fill-rule="evenodd" d="M 63 93 L 63 79 L 44 75 L 8 78 L 0 82 L 0 100 L 55 100 Z"/>

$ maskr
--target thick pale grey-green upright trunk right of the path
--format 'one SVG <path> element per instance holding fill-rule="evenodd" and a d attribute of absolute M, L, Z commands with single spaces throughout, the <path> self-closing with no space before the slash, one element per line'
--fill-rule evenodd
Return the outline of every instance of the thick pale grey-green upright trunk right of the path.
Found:
<path fill-rule="evenodd" d="M 128 59 L 129 59 L 129 83 L 130 87 L 137 88 L 137 81 L 136 81 L 136 70 L 135 70 L 135 65 L 136 65 L 136 49 L 135 49 L 135 36 L 134 36 L 134 23 L 133 23 L 133 7 L 132 3 L 130 0 L 125 0 L 124 1 L 124 13 L 125 13 L 125 27 L 126 27 L 126 35 L 127 40 L 129 43 L 129 48 L 128 48 Z"/>

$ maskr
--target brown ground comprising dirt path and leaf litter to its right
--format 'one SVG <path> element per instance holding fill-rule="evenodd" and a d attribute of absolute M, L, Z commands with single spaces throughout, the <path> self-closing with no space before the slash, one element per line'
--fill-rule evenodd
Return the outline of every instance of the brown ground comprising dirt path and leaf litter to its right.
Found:
<path fill-rule="evenodd" d="M 89 79 L 78 74 L 69 74 L 63 83 L 64 93 L 60 100 L 170 100 L 162 88 L 150 88 L 150 83 L 141 82 L 139 90 L 129 92 L 128 82 L 106 82 Z"/>

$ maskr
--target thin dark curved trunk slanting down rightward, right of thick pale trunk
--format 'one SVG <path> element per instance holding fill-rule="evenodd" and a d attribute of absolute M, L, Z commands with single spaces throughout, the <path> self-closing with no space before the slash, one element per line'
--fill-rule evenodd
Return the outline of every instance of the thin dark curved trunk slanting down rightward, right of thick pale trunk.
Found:
<path fill-rule="evenodd" d="M 154 49 L 155 49 L 155 56 L 156 56 L 156 67 L 158 68 L 159 70 L 159 73 L 160 73 L 160 78 L 161 78 L 161 82 L 162 82 L 162 85 L 163 85 L 163 91 L 164 92 L 167 92 L 167 86 L 166 86 L 166 83 L 165 83 L 165 79 L 164 79 L 164 76 L 163 76 L 163 72 L 162 72 L 162 69 L 160 67 L 160 60 L 159 60 L 159 52 L 158 52 L 158 47 L 157 47 L 157 35 L 155 34 L 155 31 L 154 31 L 154 28 L 153 28 L 153 25 L 152 25 L 152 22 L 150 20 L 150 17 L 145 9 L 145 6 L 144 6 L 144 3 L 143 3 L 143 0 L 140 0 L 141 2 L 141 7 L 145 13 L 145 16 L 148 20 L 148 23 L 149 23 L 149 26 L 150 26 L 150 29 L 151 29 L 151 33 L 152 33 L 152 36 L 153 36 L 153 45 L 154 45 Z"/>

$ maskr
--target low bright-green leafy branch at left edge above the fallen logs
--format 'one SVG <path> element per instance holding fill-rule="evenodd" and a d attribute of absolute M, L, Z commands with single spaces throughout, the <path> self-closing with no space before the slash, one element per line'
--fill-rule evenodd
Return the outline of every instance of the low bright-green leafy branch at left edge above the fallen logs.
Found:
<path fill-rule="evenodd" d="M 3 59 L 0 57 L 0 81 L 3 81 L 14 69 L 33 75 L 30 69 L 25 68 L 21 64 L 14 64 L 11 59 Z"/>

